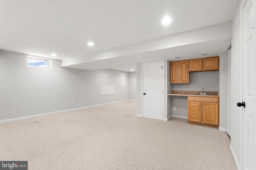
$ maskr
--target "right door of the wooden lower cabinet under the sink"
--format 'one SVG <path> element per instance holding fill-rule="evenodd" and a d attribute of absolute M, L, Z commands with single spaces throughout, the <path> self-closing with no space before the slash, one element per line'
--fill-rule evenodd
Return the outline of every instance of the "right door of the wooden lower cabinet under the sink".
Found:
<path fill-rule="evenodd" d="M 219 104 L 204 102 L 203 111 L 203 123 L 211 125 L 219 125 Z"/>

